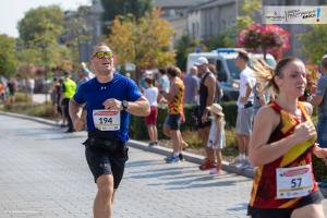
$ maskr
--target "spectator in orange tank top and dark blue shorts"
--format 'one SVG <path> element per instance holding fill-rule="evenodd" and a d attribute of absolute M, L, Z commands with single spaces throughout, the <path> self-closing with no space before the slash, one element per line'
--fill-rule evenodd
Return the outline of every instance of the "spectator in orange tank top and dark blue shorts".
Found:
<path fill-rule="evenodd" d="M 170 90 L 166 93 L 165 89 L 160 94 L 168 100 L 168 114 L 164 123 L 164 134 L 170 137 L 172 142 L 172 156 L 168 157 L 168 164 L 179 162 L 183 159 L 182 146 L 183 138 L 180 131 L 181 116 L 183 116 L 183 98 L 184 98 L 184 84 L 178 76 L 181 73 L 177 66 L 167 69 L 167 74 L 170 80 Z"/>

